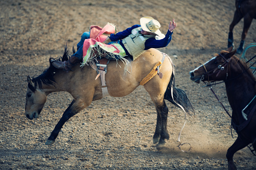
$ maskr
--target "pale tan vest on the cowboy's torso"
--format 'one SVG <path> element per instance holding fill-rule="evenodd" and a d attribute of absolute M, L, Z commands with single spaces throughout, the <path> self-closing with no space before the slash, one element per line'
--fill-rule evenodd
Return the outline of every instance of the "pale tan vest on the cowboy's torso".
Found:
<path fill-rule="evenodd" d="M 145 50 L 145 41 L 149 38 L 155 37 L 155 35 L 141 36 L 138 32 L 142 28 L 138 27 L 132 30 L 132 34 L 123 39 L 124 47 L 127 49 L 130 55 L 133 56 L 133 60 L 138 58 Z"/>

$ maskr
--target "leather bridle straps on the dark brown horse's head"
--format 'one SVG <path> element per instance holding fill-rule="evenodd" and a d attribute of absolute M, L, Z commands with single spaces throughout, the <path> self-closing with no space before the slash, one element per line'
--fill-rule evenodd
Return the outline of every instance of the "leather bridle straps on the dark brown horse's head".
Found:
<path fill-rule="evenodd" d="M 219 65 L 217 68 L 214 68 L 210 71 L 207 71 L 205 65 L 203 64 L 204 69 L 205 69 L 205 73 L 203 74 L 202 79 L 204 79 L 204 76 L 207 76 L 208 77 L 208 82 L 209 82 L 209 76 L 213 75 L 217 70 L 219 70 L 218 73 L 216 74 L 216 77 L 217 77 L 220 74 L 220 72 L 225 69 L 225 67 L 226 68 L 228 67 L 229 59 L 227 60 L 222 54 L 219 54 L 219 56 L 221 56 L 225 60 L 225 62 L 222 63 L 221 65 Z M 228 77 L 227 70 L 228 69 L 226 69 L 226 80 L 227 80 L 227 77 Z"/>

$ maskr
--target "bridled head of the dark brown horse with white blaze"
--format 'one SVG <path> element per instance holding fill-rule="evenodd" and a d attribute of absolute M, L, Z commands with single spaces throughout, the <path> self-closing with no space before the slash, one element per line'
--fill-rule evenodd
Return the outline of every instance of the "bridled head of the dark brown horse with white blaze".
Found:
<path fill-rule="evenodd" d="M 226 80 L 229 61 L 235 53 L 236 50 L 232 51 L 232 47 L 226 51 L 221 51 L 220 54 L 190 71 L 190 79 L 196 83 L 200 83 L 200 81 L 214 82 Z"/>

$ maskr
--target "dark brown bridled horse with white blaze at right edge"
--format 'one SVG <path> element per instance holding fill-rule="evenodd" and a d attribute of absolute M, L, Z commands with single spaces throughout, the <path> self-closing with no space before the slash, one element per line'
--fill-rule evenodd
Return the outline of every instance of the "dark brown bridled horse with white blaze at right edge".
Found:
<path fill-rule="evenodd" d="M 256 149 L 256 80 L 246 63 L 234 56 L 232 47 L 221 51 L 211 60 L 190 72 L 190 79 L 200 81 L 223 81 L 229 104 L 232 108 L 232 127 L 238 137 L 228 148 L 228 169 L 236 169 L 233 155 L 252 143 Z"/>

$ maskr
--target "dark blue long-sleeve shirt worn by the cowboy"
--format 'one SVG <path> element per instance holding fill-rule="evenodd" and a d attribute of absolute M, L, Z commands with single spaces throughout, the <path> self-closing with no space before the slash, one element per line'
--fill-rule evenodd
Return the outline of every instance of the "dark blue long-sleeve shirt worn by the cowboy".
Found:
<path fill-rule="evenodd" d="M 124 48 L 126 55 L 130 56 L 130 57 L 131 57 L 131 55 L 129 54 L 129 52 L 124 47 L 122 39 L 124 39 L 127 36 L 129 36 L 130 34 L 132 34 L 132 30 L 135 29 L 135 28 L 138 28 L 138 27 L 141 27 L 141 26 L 140 25 L 134 25 L 130 28 L 127 28 L 126 30 L 124 30 L 122 32 L 117 33 L 117 34 L 111 34 L 110 37 L 109 37 L 112 42 L 120 40 L 120 45 Z M 155 38 L 147 39 L 145 41 L 145 49 L 144 50 L 148 50 L 150 48 L 166 47 L 169 44 L 170 40 L 172 40 L 172 35 L 173 35 L 173 32 L 170 32 L 168 30 L 163 39 L 160 39 L 160 40 L 156 40 Z"/>

